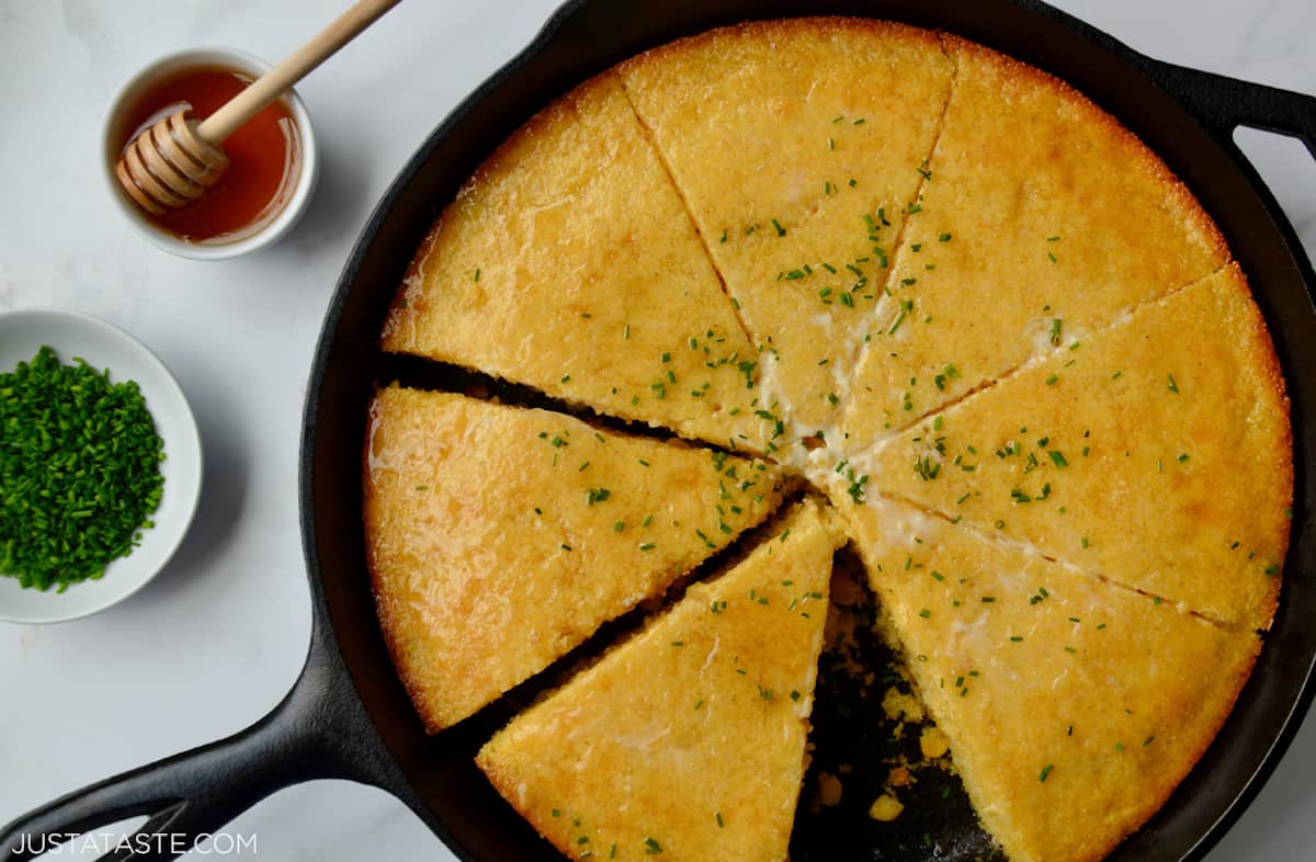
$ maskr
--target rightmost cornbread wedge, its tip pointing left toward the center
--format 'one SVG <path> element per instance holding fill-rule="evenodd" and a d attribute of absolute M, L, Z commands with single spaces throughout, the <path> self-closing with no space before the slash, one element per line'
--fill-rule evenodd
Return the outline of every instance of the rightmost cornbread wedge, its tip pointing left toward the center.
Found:
<path fill-rule="evenodd" d="M 1061 347 L 846 470 L 1217 620 L 1265 629 L 1288 401 L 1237 266 Z"/>

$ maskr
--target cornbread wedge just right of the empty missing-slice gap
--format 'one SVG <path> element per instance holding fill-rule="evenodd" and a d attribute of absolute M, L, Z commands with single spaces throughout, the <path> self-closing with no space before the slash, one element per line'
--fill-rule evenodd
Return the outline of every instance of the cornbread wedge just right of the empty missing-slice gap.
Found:
<path fill-rule="evenodd" d="M 842 507 L 1012 862 L 1104 857 L 1211 744 L 1259 638 L 891 503 Z"/>

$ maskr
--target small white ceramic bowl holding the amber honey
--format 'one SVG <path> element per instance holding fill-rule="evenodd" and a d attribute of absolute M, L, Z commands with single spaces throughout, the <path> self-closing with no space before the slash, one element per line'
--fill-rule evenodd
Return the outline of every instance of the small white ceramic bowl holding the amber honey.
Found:
<path fill-rule="evenodd" d="M 311 203 L 311 195 L 320 175 L 320 163 L 316 151 L 316 136 L 311 126 L 311 114 L 307 112 L 301 96 L 295 89 L 290 89 L 283 95 L 283 100 L 292 113 L 293 122 L 297 124 L 297 134 L 301 143 L 301 172 L 297 176 L 288 201 L 267 225 L 250 236 L 230 242 L 187 242 L 151 224 L 146 213 L 138 209 L 118 187 L 118 178 L 114 175 L 114 165 L 118 163 L 118 157 L 122 154 L 124 138 L 133 132 L 133 129 L 126 128 L 129 122 L 128 111 L 142 93 L 161 79 L 197 66 L 233 68 L 251 78 L 259 78 L 270 70 L 270 64 L 258 57 L 232 47 L 190 49 L 155 61 L 124 84 L 118 95 L 114 96 L 109 112 L 105 114 L 105 125 L 101 134 L 101 172 L 105 176 L 107 190 L 114 201 L 114 207 L 124 215 L 129 226 L 141 234 L 143 240 L 179 257 L 195 261 L 222 261 L 263 249 L 287 234 L 305 212 L 307 204 Z"/>

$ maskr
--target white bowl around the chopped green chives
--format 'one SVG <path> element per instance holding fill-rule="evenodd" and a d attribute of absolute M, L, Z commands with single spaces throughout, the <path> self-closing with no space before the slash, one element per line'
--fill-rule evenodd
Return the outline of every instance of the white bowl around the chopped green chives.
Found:
<path fill-rule="evenodd" d="M 103 611 L 141 590 L 164 567 L 182 544 L 201 496 L 201 438 L 183 390 L 154 353 L 139 341 L 95 317 L 55 308 L 0 312 L 0 372 L 50 345 L 63 363 L 82 357 L 97 370 L 109 368 L 112 383 L 137 380 L 164 441 L 161 474 L 164 488 L 142 542 L 128 557 L 112 562 L 99 580 L 54 588 L 24 590 L 17 578 L 0 575 L 0 620 L 63 622 Z"/>

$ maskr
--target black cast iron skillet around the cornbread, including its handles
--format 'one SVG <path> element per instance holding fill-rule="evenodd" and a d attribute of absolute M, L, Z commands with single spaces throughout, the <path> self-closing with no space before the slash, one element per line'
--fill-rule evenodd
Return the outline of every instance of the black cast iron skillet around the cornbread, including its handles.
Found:
<path fill-rule="evenodd" d="M 315 619 L 297 683 L 268 716 L 236 736 L 20 817 L 0 833 L 4 858 L 30 858 L 16 851 L 24 836 L 30 841 L 80 833 L 137 815 L 149 815 L 132 838 L 138 855 L 174 858 L 275 790 L 346 778 L 396 795 L 463 859 L 561 859 L 471 762 L 516 704 L 495 705 L 428 737 L 384 649 L 361 526 L 366 405 L 374 383 L 387 374 L 376 346 L 380 324 L 438 209 L 500 141 L 553 97 L 680 36 L 750 18 L 824 13 L 942 28 L 1073 83 L 1183 178 L 1249 275 L 1292 397 L 1296 500 L 1279 615 L 1216 742 L 1166 807 L 1111 858 L 1169 862 L 1207 853 L 1274 770 L 1313 694 L 1316 275 L 1232 134 L 1240 125 L 1290 134 L 1316 155 L 1316 99 L 1153 61 L 1037 0 L 571 0 L 425 141 L 343 268 L 316 351 L 303 426 L 301 524 Z M 951 832 L 959 828 L 967 826 L 948 825 Z M 946 845 L 954 842 L 951 834 Z M 942 850 L 924 855 L 946 858 Z"/>

